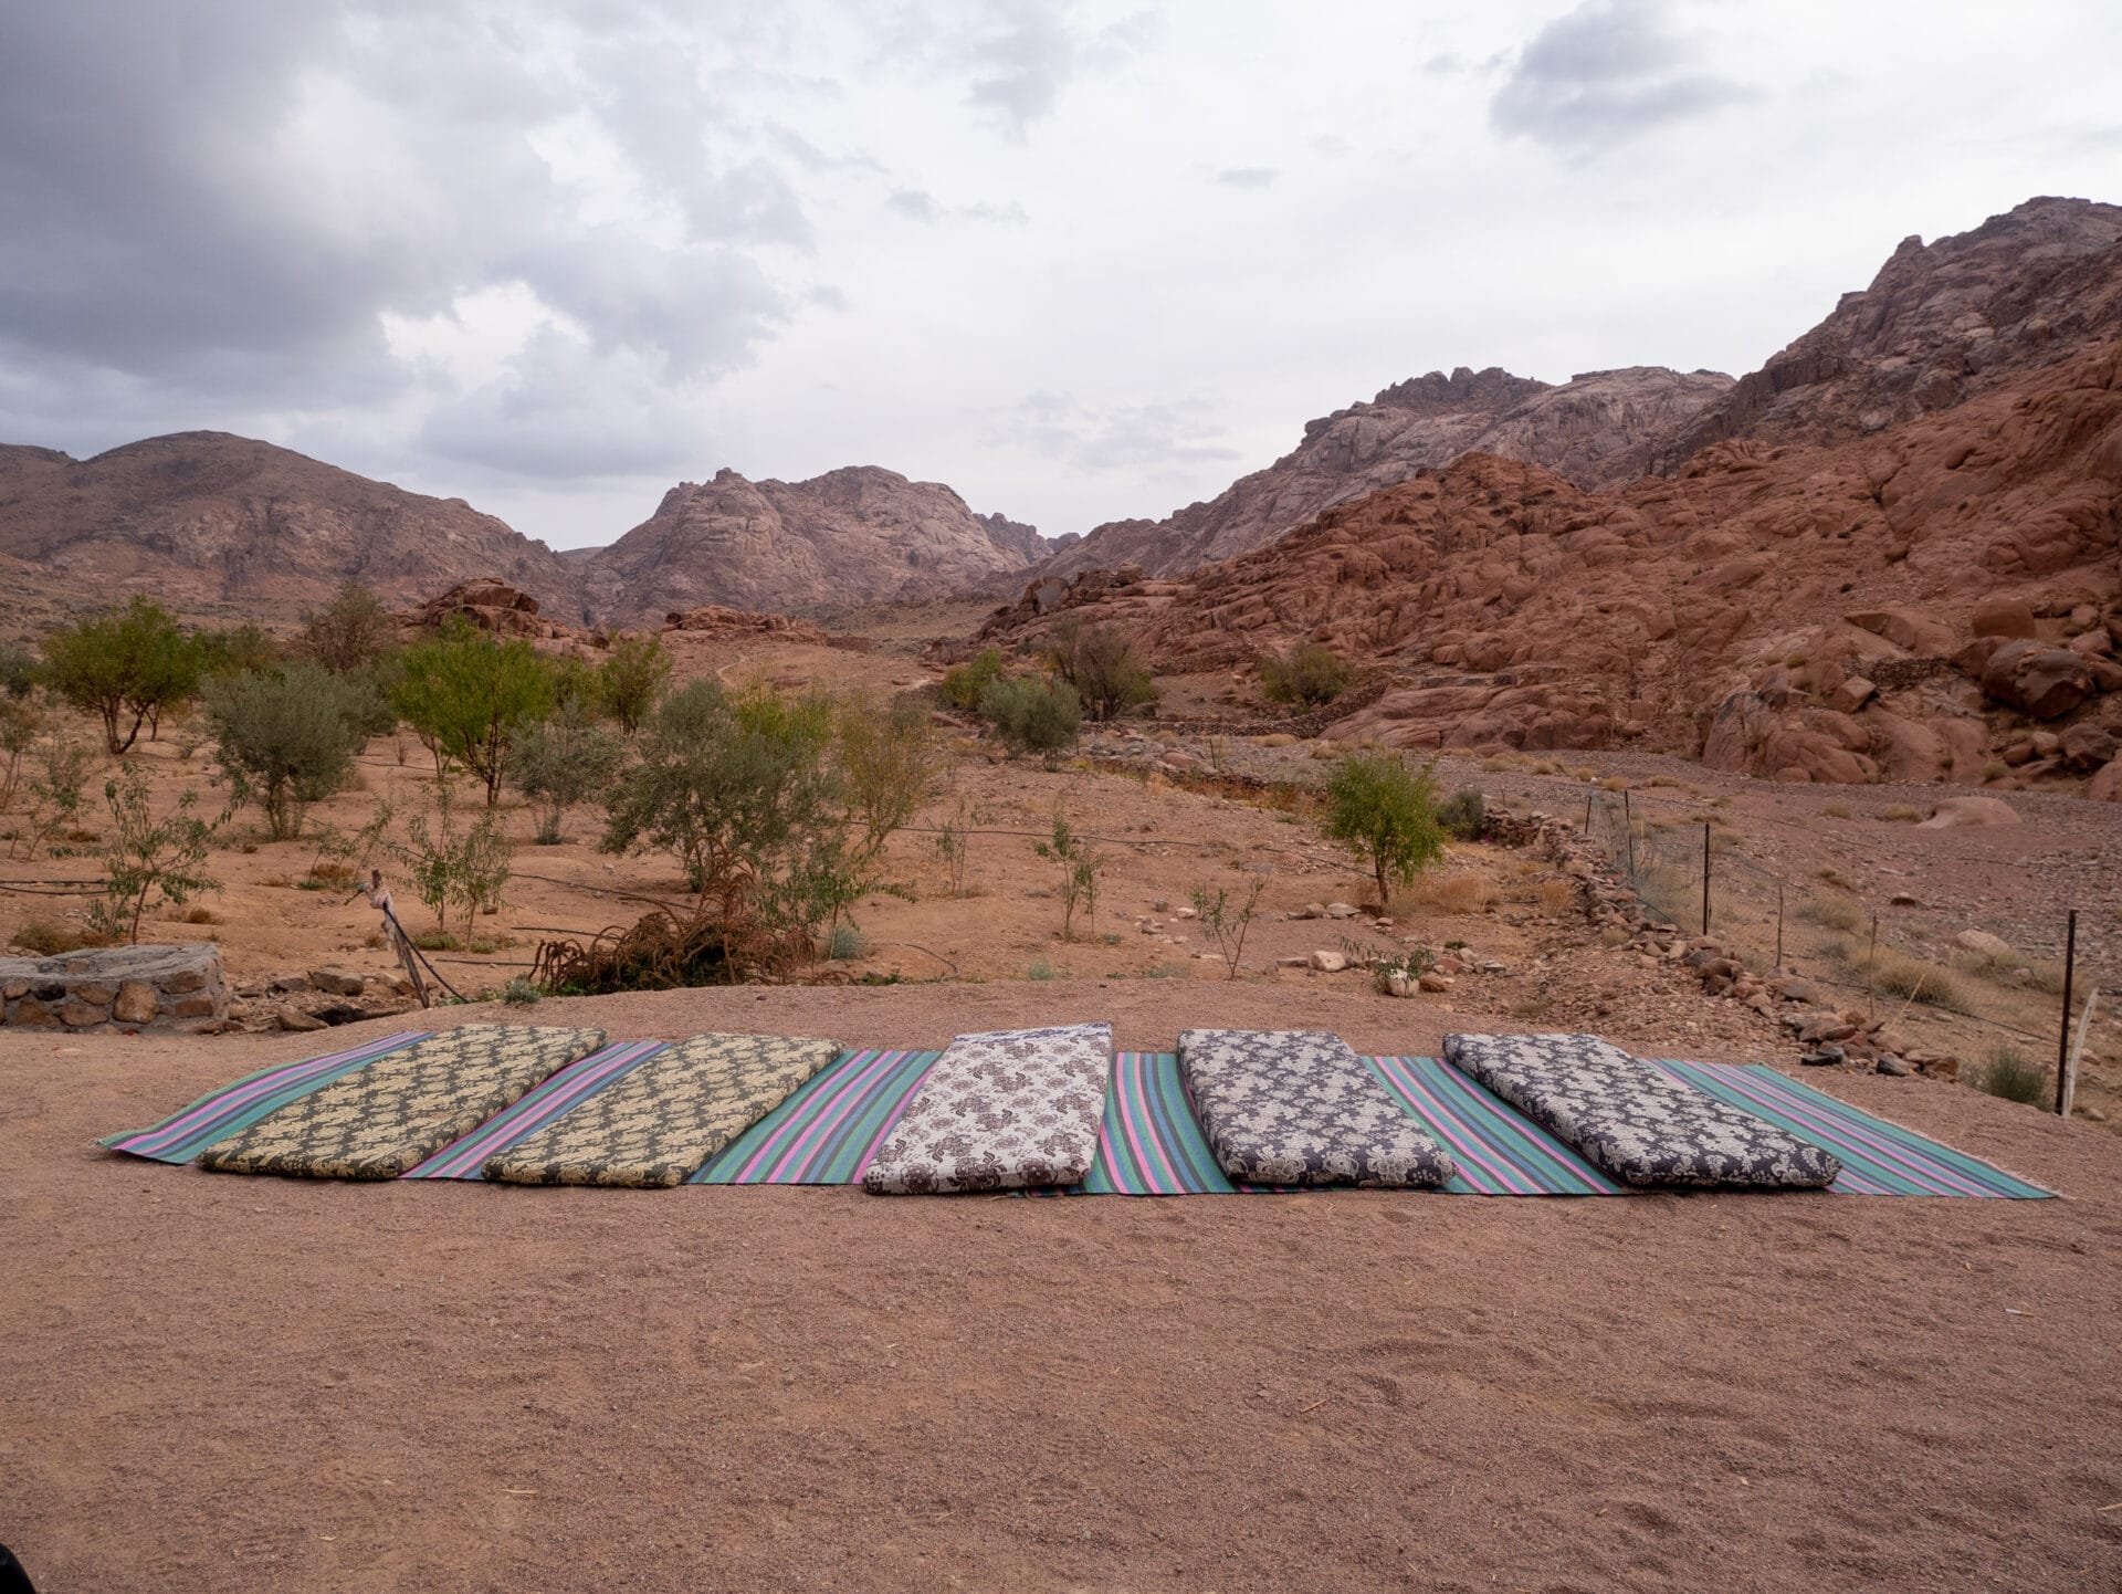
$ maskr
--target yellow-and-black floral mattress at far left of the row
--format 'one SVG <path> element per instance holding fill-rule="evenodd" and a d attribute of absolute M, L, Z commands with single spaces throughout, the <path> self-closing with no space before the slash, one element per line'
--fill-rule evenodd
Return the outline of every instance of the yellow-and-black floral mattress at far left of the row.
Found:
<path fill-rule="evenodd" d="M 199 1167 L 397 1178 L 603 1044 L 603 1029 L 467 1023 L 384 1053 L 216 1140 L 199 1155 Z"/>

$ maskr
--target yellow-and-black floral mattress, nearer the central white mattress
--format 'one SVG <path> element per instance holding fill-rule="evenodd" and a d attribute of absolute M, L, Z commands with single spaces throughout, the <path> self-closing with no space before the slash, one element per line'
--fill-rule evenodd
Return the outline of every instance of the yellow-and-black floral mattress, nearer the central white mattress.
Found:
<path fill-rule="evenodd" d="M 683 1184 L 840 1055 L 834 1040 L 696 1036 L 486 1159 L 509 1184 Z"/>

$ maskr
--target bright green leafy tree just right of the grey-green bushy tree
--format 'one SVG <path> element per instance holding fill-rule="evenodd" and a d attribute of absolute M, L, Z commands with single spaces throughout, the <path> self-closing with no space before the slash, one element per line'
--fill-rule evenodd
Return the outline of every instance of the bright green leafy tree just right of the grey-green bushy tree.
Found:
<path fill-rule="evenodd" d="M 486 785 L 486 807 L 501 796 L 509 743 L 552 713 L 554 677 L 522 637 L 492 637 L 452 618 L 405 649 L 390 703 L 435 758 L 435 775 L 463 764 Z"/>

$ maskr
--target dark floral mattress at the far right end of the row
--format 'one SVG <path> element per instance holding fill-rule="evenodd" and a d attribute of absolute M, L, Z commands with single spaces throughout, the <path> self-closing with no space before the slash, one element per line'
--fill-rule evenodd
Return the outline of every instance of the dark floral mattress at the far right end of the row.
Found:
<path fill-rule="evenodd" d="M 1445 1036 L 1445 1061 L 1623 1184 L 1819 1189 L 1842 1172 L 1598 1036 Z"/>

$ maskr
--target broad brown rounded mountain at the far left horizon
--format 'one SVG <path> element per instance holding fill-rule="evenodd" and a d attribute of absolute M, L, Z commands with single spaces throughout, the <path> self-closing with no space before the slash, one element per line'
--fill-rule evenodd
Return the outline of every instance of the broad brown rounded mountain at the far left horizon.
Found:
<path fill-rule="evenodd" d="M 289 605 L 361 579 L 414 603 L 497 575 L 581 611 L 581 582 L 545 543 L 463 499 L 429 499 L 219 431 L 76 461 L 0 448 L 0 554 L 79 592 L 146 590 L 178 605 Z"/>

